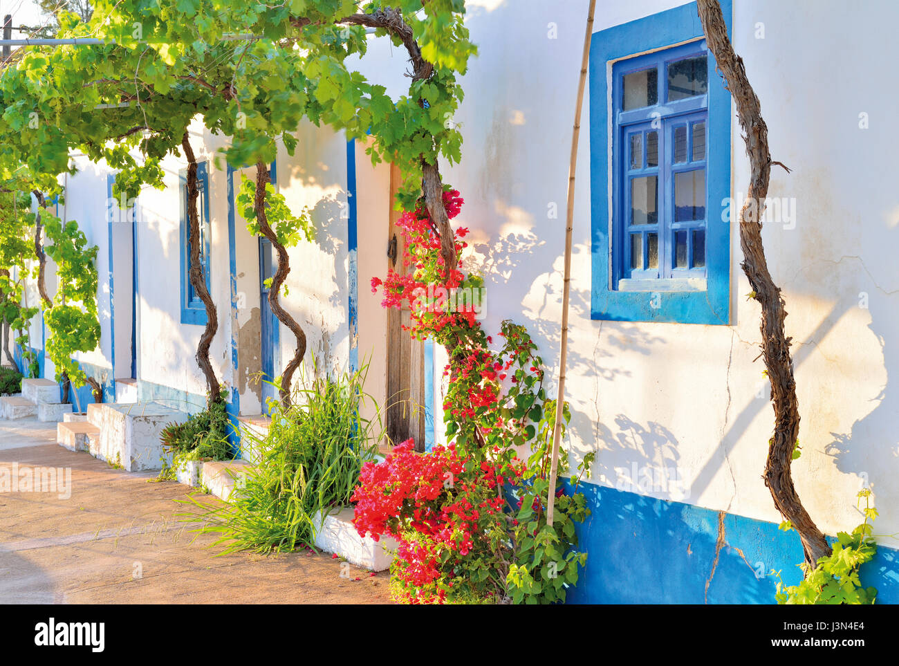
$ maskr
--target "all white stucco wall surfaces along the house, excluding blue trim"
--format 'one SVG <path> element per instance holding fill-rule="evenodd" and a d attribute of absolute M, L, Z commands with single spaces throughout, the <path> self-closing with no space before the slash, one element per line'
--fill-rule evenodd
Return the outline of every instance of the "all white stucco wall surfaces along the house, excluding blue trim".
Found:
<path fill-rule="evenodd" d="M 678 4 L 683 3 L 602 3 L 594 27 L 602 31 Z M 895 58 L 887 33 L 899 9 L 886 2 L 871 6 L 879 12 L 877 21 L 871 20 L 874 10 L 859 12 L 836 0 L 734 0 L 734 46 L 761 99 L 772 156 L 793 169 L 772 171 L 770 196 L 795 200 L 795 219 L 771 222 L 763 235 L 794 340 L 803 447 L 794 477 L 806 508 L 831 534 L 859 522 L 855 493 L 865 483 L 875 491 L 881 511 L 877 533 L 899 533 L 894 511 L 899 488 L 892 483 L 899 472 L 899 404 L 889 386 L 890 374 L 899 372 L 899 358 L 886 347 L 899 333 L 899 271 L 890 256 L 899 233 L 892 175 L 899 138 L 890 131 L 897 95 L 888 83 Z M 545 360 L 555 365 L 565 187 L 587 0 L 476 0 L 468 7 L 467 26 L 479 55 L 462 80 L 466 98 L 453 119 L 465 137 L 462 163 L 444 164 L 443 173 L 466 201 L 458 223 L 472 230 L 470 256 L 485 276 L 486 330 L 494 333 L 507 317 L 526 324 Z M 763 39 L 757 36 L 759 23 Z M 841 48 L 822 49 L 824 39 Z M 408 89 L 405 67 L 402 49 L 370 38 L 369 54 L 360 63 L 369 78 L 398 96 Z M 739 268 L 735 225 L 732 325 L 590 318 L 590 201 L 598 193 L 590 188 L 589 111 L 588 97 L 576 173 L 566 392 L 574 456 L 597 451 L 595 484 L 779 522 L 761 480 L 773 416 L 761 360 L 753 362 L 759 354 L 759 307 L 744 297 L 750 288 Z M 860 113 L 868 114 L 868 129 L 859 128 Z M 230 385 L 237 377 L 230 363 L 226 178 L 224 163 L 218 170 L 211 159 L 223 139 L 200 139 L 201 128 L 195 129 L 198 158 L 209 159 L 212 296 L 219 309 L 211 357 L 219 377 Z M 346 145 L 343 135 L 309 124 L 299 128 L 298 138 L 296 155 L 283 150 L 278 155 L 278 187 L 296 212 L 313 209 L 316 243 L 290 251 L 289 294 L 283 300 L 307 331 L 308 350 L 329 367 L 343 368 L 350 345 Z M 745 191 L 748 163 L 735 122 L 732 155 L 736 195 Z M 138 375 L 201 395 L 205 385 L 193 355 L 202 329 L 180 324 L 177 296 L 181 167 L 176 159 L 166 162 L 167 189 L 146 191 L 138 200 Z M 89 174 L 76 176 L 81 177 Z M 381 222 L 386 213 L 381 209 L 389 181 L 361 153 L 357 177 L 359 353 L 360 360 L 372 355 L 369 380 L 378 395 L 386 373 L 381 351 L 386 317 L 370 294 L 369 280 L 385 272 L 386 224 Z M 93 220 L 90 200 L 105 199 L 105 175 L 98 173 L 96 179 L 100 184 L 70 186 L 68 218 Z M 91 193 L 97 188 L 102 197 Z M 557 218 L 547 217 L 551 203 L 558 207 Z M 106 227 L 102 215 L 96 219 L 103 221 L 91 227 L 92 234 L 99 234 L 93 242 L 101 245 L 103 275 Z M 236 227 L 242 225 L 238 218 Z M 244 285 L 247 296 L 248 309 L 237 313 L 237 324 L 243 325 L 259 306 L 258 293 L 253 296 L 258 254 L 254 245 L 238 244 L 237 255 L 237 289 Z M 40 326 L 32 326 L 35 333 L 40 342 Z M 281 363 L 292 350 L 292 336 L 281 326 Z M 91 356 L 100 364 L 96 354 L 109 363 L 105 347 Z M 440 384 L 445 360 L 436 356 L 434 375 Z M 557 368 L 550 374 L 557 376 Z M 250 413 L 252 400 L 244 404 L 243 396 L 242 412 Z M 438 408 L 441 402 L 438 394 Z M 440 433 L 439 418 L 436 425 Z M 631 486 L 639 481 L 632 478 L 634 465 L 637 475 L 644 470 L 677 475 L 674 480 L 682 481 L 686 497 L 681 487 Z M 895 537 L 879 540 L 899 546 Z"/>

